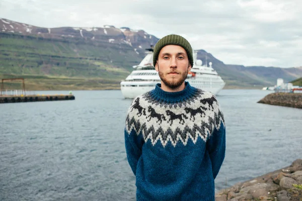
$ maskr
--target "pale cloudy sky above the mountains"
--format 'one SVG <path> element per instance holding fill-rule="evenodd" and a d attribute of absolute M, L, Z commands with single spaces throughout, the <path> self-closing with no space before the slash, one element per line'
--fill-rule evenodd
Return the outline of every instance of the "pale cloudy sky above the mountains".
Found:
<path fill-rule="evenodd" d="M 302 66 L 300 0 L 0 0 L 0 18 L 44 28 L 129 27 L 185 37 L 225 64 Z"/>

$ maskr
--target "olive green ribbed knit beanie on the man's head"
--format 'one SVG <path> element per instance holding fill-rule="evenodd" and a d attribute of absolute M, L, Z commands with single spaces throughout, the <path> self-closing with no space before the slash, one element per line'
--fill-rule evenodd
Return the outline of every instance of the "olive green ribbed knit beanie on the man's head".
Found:
<path fill-rule="evenodd" d="M 153 65 L 155 66 L 156 61 L 158 60 L 160 51 L 163 47 L 166 45 L 179 45 L 183 47 L 188 55 L 189 62 L 191 64 L 191 67 L 193 67 L 193 51 L 190 43 L 184 38 L 179 35 L 168 35 L 162 38 L 157 42 L 157 44 L 154 47 L 154 53 L 153 53 Z"/>

